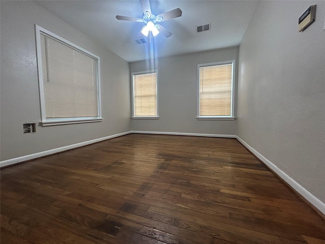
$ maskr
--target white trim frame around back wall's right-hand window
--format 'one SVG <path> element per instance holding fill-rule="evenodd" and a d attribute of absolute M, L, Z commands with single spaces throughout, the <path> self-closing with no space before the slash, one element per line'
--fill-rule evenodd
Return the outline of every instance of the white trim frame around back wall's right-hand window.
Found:
<path fill-rule="evenodd" d="M 209 67 L 209 66 L 216 66 L 216 65 L 229 65 L 233 64 L 232 70 L 232 99 L 231 99 L 231 115 L 230 116 L 200 116 L 200 68 L 201 67 Z M 222 62 L 215 62 L 215 63 L 207 63 L 207 64 L 199 64 L 198 65 L 198 120 L 234 120 L 235 117 L 235 81 L 236 81 L 236 60 L 228 60 Z"/>

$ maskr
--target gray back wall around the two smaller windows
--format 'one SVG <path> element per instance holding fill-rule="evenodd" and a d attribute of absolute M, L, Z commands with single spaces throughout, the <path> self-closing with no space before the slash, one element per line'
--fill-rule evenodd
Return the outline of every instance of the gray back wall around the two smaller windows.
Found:
<path fill-rule="evenodd" d="M 163 57 L 155 60 L 155 67 L 150 66 L 146 61 L 131 63 L 131 72 L 158 70 L 159 92 L 159 119 L 133 119 L 132 129 L 236 135 L 237 120 L 197 120 L 196 118 L 198 65 L 232 59 L 238 61 L 238 47 Z"/>

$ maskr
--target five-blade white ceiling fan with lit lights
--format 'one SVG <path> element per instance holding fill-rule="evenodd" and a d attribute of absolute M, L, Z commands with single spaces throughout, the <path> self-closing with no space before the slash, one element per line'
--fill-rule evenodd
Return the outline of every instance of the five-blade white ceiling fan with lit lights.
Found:
<path fill-rule="evenodd" d="M 168 31 L 168 29 L 166 29 L 165 27 L 161 26 L 159 22 L 180 17 L 182 16 L 182 11 L 177 8 L 162 14 L 154 15 L 151 13 L 149 0 L 140 0 L 140 3 L 143 10 L 142 18 L 116 15 L 116 19 L 143 22 L 145 25 L 142 27 L 140 33 L 142 33 L 146 37 L 148 36 L 149 32 L 152 33 L 153 36 L 156 36 L 161 33 L 165 37 L 170 37 L 172 33 Z"/>

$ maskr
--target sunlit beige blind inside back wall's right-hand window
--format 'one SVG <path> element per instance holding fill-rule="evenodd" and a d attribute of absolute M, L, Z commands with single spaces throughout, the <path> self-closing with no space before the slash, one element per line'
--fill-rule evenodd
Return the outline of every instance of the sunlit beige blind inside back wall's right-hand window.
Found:
<path fill-rule="evenodd" d="M 200 67 L 200 116 L 232 115 L 233 64 Z"/>

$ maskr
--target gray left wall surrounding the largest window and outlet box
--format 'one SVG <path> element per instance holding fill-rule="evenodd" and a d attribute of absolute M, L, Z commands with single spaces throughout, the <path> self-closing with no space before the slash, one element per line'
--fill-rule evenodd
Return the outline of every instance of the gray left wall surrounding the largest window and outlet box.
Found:
<path fill-rule="evenodd" d="M 101 57 L 98 123 L 37 126 L 41 121 L 35 24 Z M 1 160 L 13 159 L 131 129 L 128 63 L 34 2 L 1 1 Z"/>

